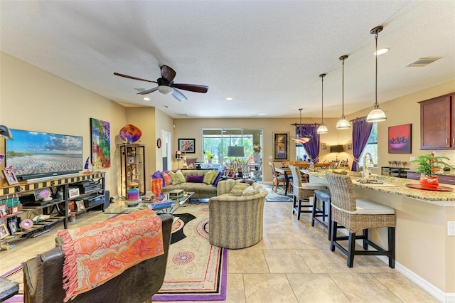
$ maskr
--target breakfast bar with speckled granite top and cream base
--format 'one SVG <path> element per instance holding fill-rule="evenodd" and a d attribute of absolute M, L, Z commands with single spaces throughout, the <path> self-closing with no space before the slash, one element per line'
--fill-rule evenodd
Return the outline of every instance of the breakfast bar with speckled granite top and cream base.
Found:
<path fill-rule="evenodd" d="M 326 181 L 326 171 L 305 171 L 310 182 Z M 419 181 L 378 176 L 383 184 L 360 184 L 360 174 L 349 172 L 356 198 L 369 199 L 395 208 L 396 270 L 441 302 L 455 299 L 455 236 L 448 235 L 448 222 L 455 221 L 454 191 L 410 188 Z M 450 190 L 450 189 L 448 189 Z M 373 240 L 387 247 L 387 230 L 372 230 Z M 355 265 L 354 265 L 355 266 Z"/>

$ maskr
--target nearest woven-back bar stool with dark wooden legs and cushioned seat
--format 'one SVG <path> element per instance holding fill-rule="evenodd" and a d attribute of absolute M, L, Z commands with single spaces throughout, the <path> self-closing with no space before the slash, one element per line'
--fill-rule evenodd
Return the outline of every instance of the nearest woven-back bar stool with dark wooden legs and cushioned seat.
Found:
<path fill-rule="evenodd" d="M 338 248 L 348 257 L 348 267 L 353 267 L 355 255 L 385 255 L 389 258 L 389 267 L 395 268 L 395 209 L 369 200 L 356 199 L 349 176 L 326 173 L 331 190 L 331 239 L 330 249 Z M 337 228 L 343 225 L 349 235 L 337 236 Z M 369 228 L 387 228 L 388 250 L 368 239 Z M 363 235 L 355 235 L 363 231 Z M 363 250 L 355 250 L 355 239 L 363 240 Z M 338 241 L 348 240 L 348 250 Z M 368 250 L 368 245 L 375 250 Z"/>

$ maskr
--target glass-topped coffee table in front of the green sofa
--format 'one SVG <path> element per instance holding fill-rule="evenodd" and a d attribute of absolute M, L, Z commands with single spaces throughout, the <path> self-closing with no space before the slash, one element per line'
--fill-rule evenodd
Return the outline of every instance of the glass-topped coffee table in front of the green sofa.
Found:
<path fill-rule="evenodd" d="M 178 199 L 170 199 L 168 193 L 163 193 L 164 194 L 164 199 L 163 201 L 158 201 L 154 200 L 153 198 L 147 197 L 146 199 L 143 199 L 141 203 L 139 203 L 137 206 L 128 206 L 125 201 L 127 201 L 126 198 L 119 198 L 114 200 L 114 203 L 117 205 L 115 206 L 109 206 L 105 210 L 105 214 L 107 215 L 117 215 L 121 213 L 132 213 L 134 211 L 140 211 L 141 209 L 146 209 L 146 208 L 151 208 L 151 204 L 156 203 L 158 205 L 156 208 L 153 208 L 155 213 L 161 214 L 161 213 L 170 213 L 173 214 L 174 211 L 176 211 L 181 205 L 186 203 L 191 196 L 193 196 L 193 192 L 188 192 L 185 193 L 185 195 L 181 198 Z M 146 201 L 149 199 L 149 201 Z M 159 203 L 162 203 L 164 201 L 169 201 L 172 202 L 171 205 L 168 205 L 166 207 L 160 207 Z"/>

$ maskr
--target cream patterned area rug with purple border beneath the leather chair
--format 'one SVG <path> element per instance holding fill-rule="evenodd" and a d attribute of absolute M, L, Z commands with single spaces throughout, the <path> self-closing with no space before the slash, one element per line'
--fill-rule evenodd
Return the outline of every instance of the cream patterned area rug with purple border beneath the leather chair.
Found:
<path fill-rule="evenodd" d="M 222 301 L 226 299 L 228 250 L 208 242 L 207 203 L 188 203 L 174 213 L 166 276 L 153 301 Z M 23 302 L 22 266 L 6 272 L 19 293 L 6 302 Z"/>

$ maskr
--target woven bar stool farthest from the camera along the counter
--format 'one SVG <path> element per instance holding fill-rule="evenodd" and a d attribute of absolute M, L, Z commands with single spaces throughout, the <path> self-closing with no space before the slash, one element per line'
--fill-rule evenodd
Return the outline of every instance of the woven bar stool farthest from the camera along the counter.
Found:
<path fill-rule="evenodd" d="M 302 183 L 299 167 L 291 165 L 290 169 L 292 172 L 292 179 L 294 180 L 292 213 L 296 212 L 297 220 L 300 220 L 301 213 L 313 212 L 313 203 L 311 203 L 310 198 L 313 198 L 314 191 L 316 189 L 326 189 L 327 186 L 323 183 Z"/>

